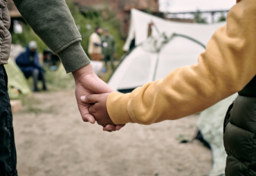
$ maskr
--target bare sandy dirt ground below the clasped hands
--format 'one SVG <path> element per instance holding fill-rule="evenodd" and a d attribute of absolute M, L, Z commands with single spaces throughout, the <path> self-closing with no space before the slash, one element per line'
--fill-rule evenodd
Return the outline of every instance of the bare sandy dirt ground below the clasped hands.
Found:
<path fill-rule="evenodd" d="M 107 133 L 82 121 L 73 90 L 38 93 L 28 101 L 14 115 L 21 176 L 203 176 L 211 168 L 208 148 L 176 139 L 192 137 L 198 115 Z"/>

